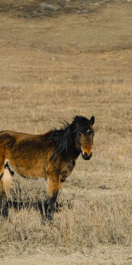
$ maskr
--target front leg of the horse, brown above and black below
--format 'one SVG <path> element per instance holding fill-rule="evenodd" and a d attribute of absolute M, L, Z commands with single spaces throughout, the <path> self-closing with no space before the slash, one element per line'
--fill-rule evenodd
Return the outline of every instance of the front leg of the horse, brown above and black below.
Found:
<path fill-rule="evenodd" d="M 53 214 L 55 211 L 55 202 L 59 189 L 61 187 L 59 175 L 53 174 L 48 175 L 47 183 L 47 199 L 45 201 L 45 217 L 47 220 L 53 219 Z"/>

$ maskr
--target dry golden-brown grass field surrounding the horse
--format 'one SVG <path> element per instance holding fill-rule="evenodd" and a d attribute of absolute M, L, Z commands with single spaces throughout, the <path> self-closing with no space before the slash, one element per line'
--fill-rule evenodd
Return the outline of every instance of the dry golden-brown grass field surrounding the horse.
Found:
<path fill-rule="evenodd" d="M 78 158 L 53 224 L 30 206 L 0 217 L 1 265 L 132 264 L 131 14 L 131 1 L 1 0 L 0 129 L 95 116 L 93 156 Z M 9 198 L 43 201 L 45 182 L 15 175 Z"/>

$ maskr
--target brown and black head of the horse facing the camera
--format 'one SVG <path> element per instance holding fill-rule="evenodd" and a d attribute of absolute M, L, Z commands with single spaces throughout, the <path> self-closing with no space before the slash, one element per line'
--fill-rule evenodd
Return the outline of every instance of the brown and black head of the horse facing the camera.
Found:
<path fill-rule="evenodd" d="M 85 160 L 89 160 L 92 156 L 92 144 L 94 136 L 94 116 L 90 120 L 85 117 L 76 116 L 76 124 L 78 128 L 78 144 L 82 156 Z"/>

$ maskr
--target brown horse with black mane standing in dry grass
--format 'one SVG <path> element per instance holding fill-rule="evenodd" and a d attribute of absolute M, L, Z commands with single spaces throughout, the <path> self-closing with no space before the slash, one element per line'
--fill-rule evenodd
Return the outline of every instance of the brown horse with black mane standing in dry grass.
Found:
<path fill-rule="evenodd" d="M 45 218 L 52 220 L 58 192 L 71 175 L 78 156 L 92 157 L 94 116 L 88 120 L 75 116 L 72 123 L 42 135 L 30 135 L 5 130 L 0 132 L 0 201 L 8 205 L 8 192 L 16 172 L 22 177 L 45 178 L 47 198 Z M 8 206 L 6 206 L 8 216 Z M 42 209 L 41 209 L 42 210 Z"/>

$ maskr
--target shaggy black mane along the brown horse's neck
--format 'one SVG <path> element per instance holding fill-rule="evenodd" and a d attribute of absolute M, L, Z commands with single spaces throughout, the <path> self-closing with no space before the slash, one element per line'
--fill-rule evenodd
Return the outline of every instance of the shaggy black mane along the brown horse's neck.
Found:
<path fill-rule="evenodd" d="M 71 124 L 65 122 L 61 128 L 51 130 L 50 136 L 46 140 L 53 141 L 56 147 L 50 161 L 55 161 L 61 153 L 68 154 L 70 152 L 78 156 L 81 151 L 79 134 L 88 126 L 89 120 L 87 118 L 76 116 Z M 77 143 L 79 147 L 77 147 Z"/>

